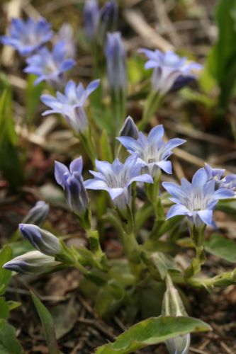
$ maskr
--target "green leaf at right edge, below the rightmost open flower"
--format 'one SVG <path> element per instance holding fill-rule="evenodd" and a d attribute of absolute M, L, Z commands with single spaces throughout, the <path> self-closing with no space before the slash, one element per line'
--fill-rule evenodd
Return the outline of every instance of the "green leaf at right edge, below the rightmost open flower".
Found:
<path fill-rule="evenodd" d="M 210 239 L 205 241 L 204 247 L 210 254 L 228 262 L 236 262 L 236 243 L 231 239 L 226 239 L 220 234 L 211 234 Z"/>

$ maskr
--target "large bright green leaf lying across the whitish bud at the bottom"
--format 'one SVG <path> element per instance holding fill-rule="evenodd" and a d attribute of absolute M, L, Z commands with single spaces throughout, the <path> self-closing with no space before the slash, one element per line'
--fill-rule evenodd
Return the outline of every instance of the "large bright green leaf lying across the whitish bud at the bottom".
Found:
<path fill-rule="evenodd" d="M 151 317 L 120 334 L 114 343 L 97 348 L 96 354 L 128 354 L 191 332 L 209 331 L 210 326 L 192 317 Z"/>

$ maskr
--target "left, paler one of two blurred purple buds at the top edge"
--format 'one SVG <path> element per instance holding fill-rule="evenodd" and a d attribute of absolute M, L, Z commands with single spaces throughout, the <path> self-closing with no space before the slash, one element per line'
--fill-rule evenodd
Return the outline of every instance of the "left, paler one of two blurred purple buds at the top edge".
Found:
<path fill-rule="evenodd" d="M 99 25 L 99 5 L 96 0 L 86 0 L 84 5 L 84 30 L 89 40 L 93 40 Z"/>

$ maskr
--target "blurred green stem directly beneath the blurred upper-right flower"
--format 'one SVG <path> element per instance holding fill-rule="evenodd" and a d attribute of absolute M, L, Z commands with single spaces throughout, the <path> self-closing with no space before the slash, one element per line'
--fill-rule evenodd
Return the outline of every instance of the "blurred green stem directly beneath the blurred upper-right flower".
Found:
<path fill-rule="evenodd" d="M 150 122 L 152 115 L 162 105 L 162 98 L 163 96 L 158 91 L 151 91 L 150 94 L 147 96 L 145 108 L 142 113 L 142 120 L 140 120 L 137 125 L 140 130 L 145 130 L 145 127 Z"/>

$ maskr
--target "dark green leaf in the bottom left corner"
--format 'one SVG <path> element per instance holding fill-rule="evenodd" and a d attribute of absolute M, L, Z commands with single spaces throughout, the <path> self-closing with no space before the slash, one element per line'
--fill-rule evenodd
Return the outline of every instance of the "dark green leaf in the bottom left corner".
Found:
<path fill-rule="evenodd" d="M 23 354 L 16 330 L 4 319 L 0 319 L 0 354 Z"/>

